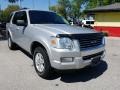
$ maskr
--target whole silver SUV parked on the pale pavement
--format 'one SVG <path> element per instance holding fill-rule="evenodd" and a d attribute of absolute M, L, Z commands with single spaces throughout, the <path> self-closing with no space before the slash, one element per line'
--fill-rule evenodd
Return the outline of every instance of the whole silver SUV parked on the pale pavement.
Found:
<path fill-rule="evenodd" d="M 81 69 L 97 65 L 104 58 L 105 39 L 95 30 L 70 26 L 59 14 L 20 10 L 7 24 L 8 46 L 16 45 L 33 56 L 36 72 L 47 78 L 53 68 Z"/>

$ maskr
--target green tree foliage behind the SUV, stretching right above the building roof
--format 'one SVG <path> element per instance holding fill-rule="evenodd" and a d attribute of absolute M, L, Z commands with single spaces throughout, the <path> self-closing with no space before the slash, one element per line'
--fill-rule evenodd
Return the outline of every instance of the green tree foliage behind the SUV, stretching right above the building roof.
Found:
<path fill-rule="evenodd" d="M 83 13 L 82 5 L 85 5 L 84 9 L 95 8 L 98 6 L 105 6 L 120 0 L 58 0 L 57 5 L 51 6 L 50 10 L 57 12 L 65 18 L 73 17 L 79 18 Z"/>

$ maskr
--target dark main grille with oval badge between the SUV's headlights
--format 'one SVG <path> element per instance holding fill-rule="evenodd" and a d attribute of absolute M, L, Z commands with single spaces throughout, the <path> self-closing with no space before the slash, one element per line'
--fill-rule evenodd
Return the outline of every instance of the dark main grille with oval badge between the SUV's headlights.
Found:
<path fill-rule="evenodd" d="M 103 36 L 101 34 L 84 34 L 78 41 L 80 49 L 86 50 L 102 45 Z"/>

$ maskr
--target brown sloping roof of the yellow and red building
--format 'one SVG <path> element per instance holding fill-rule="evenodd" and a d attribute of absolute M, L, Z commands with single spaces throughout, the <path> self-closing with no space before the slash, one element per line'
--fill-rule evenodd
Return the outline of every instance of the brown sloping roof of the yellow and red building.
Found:
<path fill-rule="evenodd" d="M 86 12 L 120 11 L 120 3 L 88 9 Z"/>

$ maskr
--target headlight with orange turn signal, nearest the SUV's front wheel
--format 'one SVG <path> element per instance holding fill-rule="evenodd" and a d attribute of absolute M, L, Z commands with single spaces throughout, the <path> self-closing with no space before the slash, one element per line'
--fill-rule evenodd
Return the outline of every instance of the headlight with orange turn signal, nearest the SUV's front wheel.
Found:
<path fill-rule="evenodd" d="M 60 49 L 72 49 L 73 41 L 70 38 L 53 38 L 51 40 L 51 45 L 55 48 Z"/>

